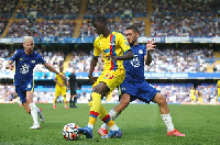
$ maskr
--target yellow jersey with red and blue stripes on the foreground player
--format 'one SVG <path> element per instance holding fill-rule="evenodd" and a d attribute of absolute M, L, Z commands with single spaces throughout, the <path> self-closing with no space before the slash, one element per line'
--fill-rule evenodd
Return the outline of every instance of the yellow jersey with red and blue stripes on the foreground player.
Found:
<path fill-rule="evenodd" d="M 123 60 L 112 62 L 109 56 L 122 56 L 130 49 L 127 38 L 118 32 L 112 32 L 108 37 L 102 34 L 94 42 L 94 56 L 103 55 L 103 69 L 124 69 Z"/>

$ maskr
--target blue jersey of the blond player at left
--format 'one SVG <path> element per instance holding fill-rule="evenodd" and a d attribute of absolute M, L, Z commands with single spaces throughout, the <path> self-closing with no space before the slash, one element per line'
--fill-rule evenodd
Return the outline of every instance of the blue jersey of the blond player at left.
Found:
<path fill-rule="evenodd" d="M 15 62 L 14 86 L 33 80 L 35 65 L 46 63 L 40 54 L 33 52 L 31 55 L 26 55 L 24 49 L 16 49 L 10 60 Z"/>

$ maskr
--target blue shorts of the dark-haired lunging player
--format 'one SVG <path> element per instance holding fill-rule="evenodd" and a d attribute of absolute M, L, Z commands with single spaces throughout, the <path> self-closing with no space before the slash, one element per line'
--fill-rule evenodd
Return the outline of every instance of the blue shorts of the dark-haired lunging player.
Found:
<path fill-rule="evenodd" d="M 143 82 L 123 82 L 120 86 L 121 94 L 129 93 L 131 96 L 131 101 L 136 99 L 150 103 L 156 96 L 158 90 L 156 90 L 152 85 L 146 81 Z"/>

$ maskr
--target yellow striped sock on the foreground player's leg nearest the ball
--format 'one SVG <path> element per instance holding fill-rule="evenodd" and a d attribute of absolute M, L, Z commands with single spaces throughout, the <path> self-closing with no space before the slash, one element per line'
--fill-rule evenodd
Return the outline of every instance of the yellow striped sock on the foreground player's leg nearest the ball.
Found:
<path fill-rule="evenodd" d="M 99 115 L 99 110 L 101 107 L 101 94 L 97 92 L 92 92 L 91 97 L 92 97 L 92 101 L 89 102 L 90 115 L 89 115 L 88 127 L 94 129 L 94 125 L 97 121 L 97 118 Z"/>

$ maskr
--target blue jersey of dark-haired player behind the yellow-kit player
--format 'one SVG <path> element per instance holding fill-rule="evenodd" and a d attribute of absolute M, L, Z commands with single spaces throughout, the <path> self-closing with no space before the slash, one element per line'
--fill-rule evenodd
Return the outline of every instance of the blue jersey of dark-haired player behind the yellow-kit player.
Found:
<path fill-rule="evenodd" d="M 131 46 L 134 58 L 131 60 L 124 60 L 123 66 L 125 68 L 125 82 L 142 82 L 144 81 L 144 56 L 146 55 L 145 45 Z"/>

